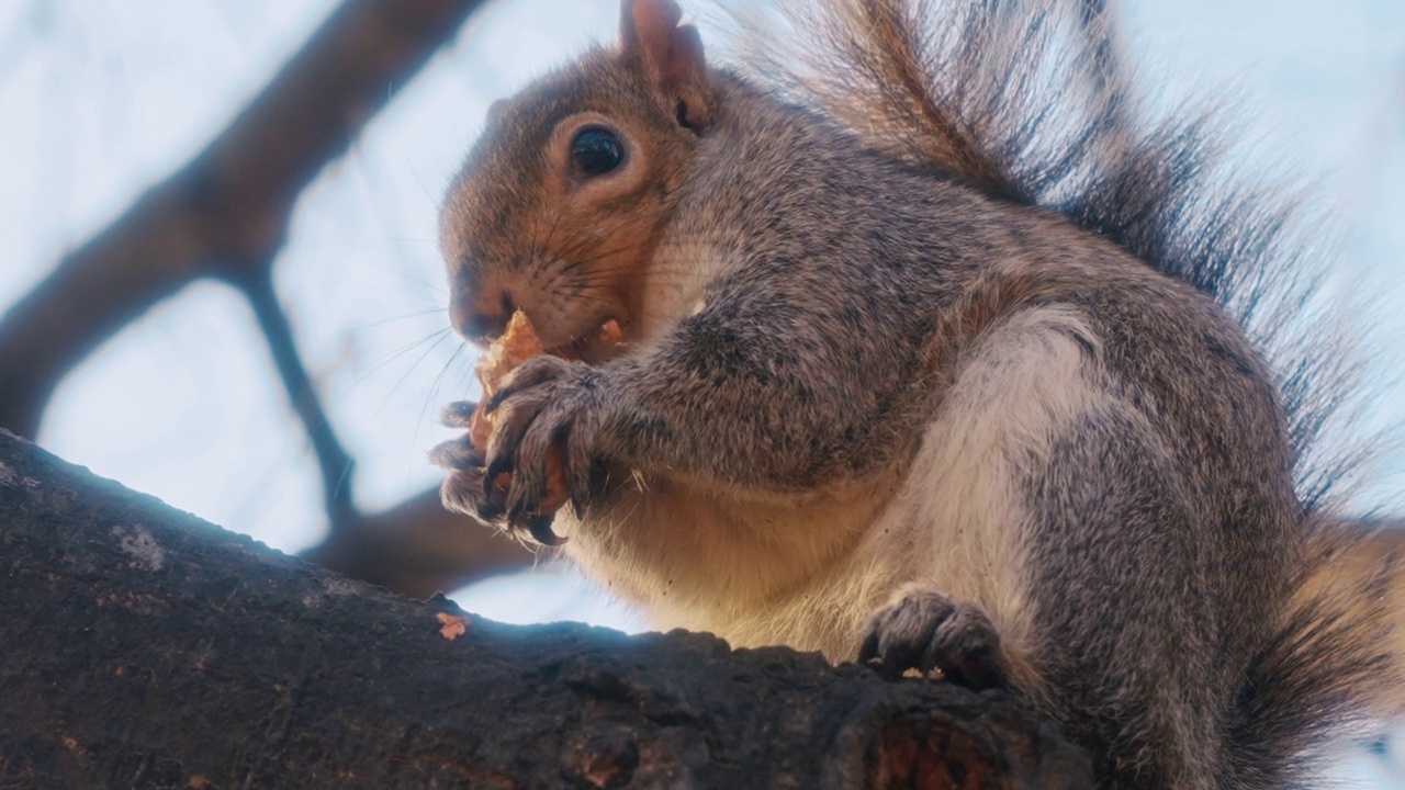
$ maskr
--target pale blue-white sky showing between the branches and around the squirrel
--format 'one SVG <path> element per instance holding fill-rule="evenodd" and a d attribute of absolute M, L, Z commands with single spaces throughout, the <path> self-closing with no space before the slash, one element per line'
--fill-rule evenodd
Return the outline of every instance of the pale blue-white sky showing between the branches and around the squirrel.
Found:
<path fill-rule="evenodd" d="M 330 0 L 0 0 L 0 309 L 194 155 L 330 10 Z M 1345 271 L 1394 308 L 1373 340 L 1405 403 L 1405 1 L 1128 0 L 1128 52 L 1170 97 L 1217 91 L 1259 155 L 1333 207 Z M 277 283 L 336 429 L 358 505 L 434 485 L 438 408 L 471 358 L 443 336 L 436 207 L 489 103 L 610 39 L 615 0 L 510 0 L 481 13 L 296 209 Z M 1232 91 L 1232 93 L 1231 93 Z M 1383 357 L 1384 358 L 1384 357 Z M 0 382 L 3 387 L 3 382 Z M 1405 409 L 1402 409 L 1405 410 Z M 1399 415 L 1401 410 L 1395 410 Z M 1377 417 L 1384 419 L 1384 417 Z M 1394 417 L 1391 422 L 1397 422 Z M 198 284 L 103 346 L 41 433 L 59 455 L 296 551 L 323 529 L 313 460 L 242 299 Z M 1399 491 L 1394 457 L 1383 488 Z M 503 581 L 461 596 L 524 621 L 584 617 L 576 582 Z"/>

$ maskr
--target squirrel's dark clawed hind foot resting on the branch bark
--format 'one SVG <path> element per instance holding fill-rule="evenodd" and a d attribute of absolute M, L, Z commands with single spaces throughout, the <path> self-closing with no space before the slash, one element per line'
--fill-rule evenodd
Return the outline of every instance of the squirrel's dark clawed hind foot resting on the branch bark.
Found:
<path fill-rule="evenodd" d="M 878 659 L 891 673 L 940 669 L 969 689 L 1005 687 L 1009 662 L 985 611 L 923 588 L 905 590 L 868 621 L 858 661 Z"/>

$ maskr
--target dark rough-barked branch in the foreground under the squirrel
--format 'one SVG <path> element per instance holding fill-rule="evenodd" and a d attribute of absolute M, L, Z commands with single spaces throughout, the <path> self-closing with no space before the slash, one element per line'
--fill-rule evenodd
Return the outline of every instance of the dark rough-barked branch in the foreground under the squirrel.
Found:
<path fill-rule="evenodd" d="M 705 634 L 492 623 L 284 557 L 4 432 L 0 645 L 4 787 L 1087 777 L 1000 693 Z"/>

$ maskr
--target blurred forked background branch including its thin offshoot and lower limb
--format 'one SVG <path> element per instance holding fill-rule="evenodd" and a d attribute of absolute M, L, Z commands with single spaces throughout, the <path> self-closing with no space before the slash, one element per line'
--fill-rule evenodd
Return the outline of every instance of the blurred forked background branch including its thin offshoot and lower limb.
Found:
<path fill-rule="evenodd" d="M 298 195 L 483 0 L 346 0 L 198 156 L 150 187 L 0 318 L 0 426 L 34 436 L 59 381 L 149 308 L 202 277 L 239 287 L 322 471 L 329 566 L 410 593 L 520 568 L 530 554 L 424 493 L 355 512 L 344 450 L 273 287 Z"/>

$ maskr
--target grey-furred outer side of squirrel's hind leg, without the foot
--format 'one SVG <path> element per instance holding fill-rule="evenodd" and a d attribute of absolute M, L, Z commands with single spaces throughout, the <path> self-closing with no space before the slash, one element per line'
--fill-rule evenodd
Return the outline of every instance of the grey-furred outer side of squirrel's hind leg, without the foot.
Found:
<path fill-rule="evenodd" d="M 1218 583 L 1231 536 L 1207 523 L 1173 440 L 1152 425 L 1106 402 L 1030 475 L 1028 585 L 1035 644 L 1048 645 L 1030 658 L 1054 711 L 1080 711 L 1061 718 L 1103 755 L 1104 786 L 1252 786 L 1224 776 L 1225 717 L 1249 658 L 1224 648 L 1224 631 L 1272 621 L 1274 607 Z"/>

